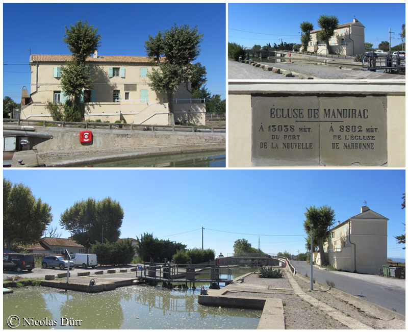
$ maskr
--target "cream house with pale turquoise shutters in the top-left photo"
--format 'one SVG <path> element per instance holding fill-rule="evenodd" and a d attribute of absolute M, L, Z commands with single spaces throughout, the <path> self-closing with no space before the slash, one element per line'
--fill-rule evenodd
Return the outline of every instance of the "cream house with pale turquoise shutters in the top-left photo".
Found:
<path fill-rule="evenodd" d="M 46 103 L 64 103 L 68 96 L 61 89 L 61 67 L 70 55 L 31 55 L 30 98 L 21 98 L 21 118 L 52 120 Z M 92 76 L 92 87 L 84 90 L 81 110 L 85 120 L 136 124 L 168 124 L 166 94 L 149 87 L 147 74 L 155 63 L 147 57 L 98 56 L 86 60 Z M 191 99 L 191 84 L 186 83 L 173 94 L 175 122 L 191 120 L 205 124 L 206 107 L 201 100 Z"/>

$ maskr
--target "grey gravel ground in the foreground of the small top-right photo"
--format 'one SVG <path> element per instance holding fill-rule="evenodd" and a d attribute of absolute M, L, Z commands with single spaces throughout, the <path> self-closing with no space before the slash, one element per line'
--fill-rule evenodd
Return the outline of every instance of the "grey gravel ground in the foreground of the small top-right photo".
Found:
<path fill-rule="evenodd" d="M 293 62 L 259 62 L 261 64 L 272 67 L 290 70 L 292 73 L 301 73 L 313 76 L 316 79 L 324 80 L 344 80 L 344 79 L 392 79 L 401 80 L 405 76 L 384 74 L 363 70 L 339 69 L 338 66 L 330 67 L 325 65 L 316 65 L 313 63 L 305 63 L 293 60 Z M 271 71 L 265 71 L 261 68 L 253 67 L 246 63 L 228 60 L 228 80 L 284 80 L 284 79 L 299 79 L 298 76 L 285 77 L 282 74 L 275 74 Z"/>

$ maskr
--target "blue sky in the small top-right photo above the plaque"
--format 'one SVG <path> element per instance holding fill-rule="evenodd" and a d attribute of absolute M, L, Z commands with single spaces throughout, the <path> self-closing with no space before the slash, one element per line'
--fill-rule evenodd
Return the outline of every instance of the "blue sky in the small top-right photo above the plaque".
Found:
<path fill-rule="evenodd" d="M 399 3 L 398 3 L 399 2 Z M 364 26 L 365 41 L 378 47 L 381 41 L 389 41 L 391 46 L 401 43 L 399 34 L 405 23 L 405 3 L 286 3 L 286 4 L 228 4 L 228 42 L 235 42 L 251 48 L 270 43 L 300 44 L 299 25 L 303 21 L 313 23 L 319 29 L 320 15 L 335 15 L 339 23 L 349 23 L 355 17 Z M 242 30 L 242 31 L 238 31 Z"/>

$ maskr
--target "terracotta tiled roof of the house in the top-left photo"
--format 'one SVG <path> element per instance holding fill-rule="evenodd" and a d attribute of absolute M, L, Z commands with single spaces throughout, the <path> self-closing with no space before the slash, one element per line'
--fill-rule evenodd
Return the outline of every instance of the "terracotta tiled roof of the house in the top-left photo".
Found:
<path fill-rule="evenodd" d="M 51 55 L 51 54 L 32 54 L 30 62 L 65 62 L 70 61 L 70 55 Z M 155 62 L 154 59 L 148 57 L 133 57 L 133 56 L 98 56 L 97 58 L 88 57 L 87 62 L 118 62 L 118 63 L 134 63 L 134 62 Z"/>

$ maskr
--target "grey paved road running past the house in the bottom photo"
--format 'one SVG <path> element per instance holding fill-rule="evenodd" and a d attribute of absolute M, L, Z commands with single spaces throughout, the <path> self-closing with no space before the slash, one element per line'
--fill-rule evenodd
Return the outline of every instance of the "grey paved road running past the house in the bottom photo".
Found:
<path fill-rule="evenodd" d="M 297 273 L 303 275 L 307 273 L 310 277 L 310 265 L 308 263 L 298 261 L 291 261 L 291 263 Z M 334 282 L 336 289 L 405 315 L 405 279 L 320 270 L 316 267 L 313 269 L 313 278 L 324 285 L 326 285 L 326 280 Z"/>

